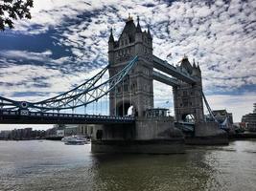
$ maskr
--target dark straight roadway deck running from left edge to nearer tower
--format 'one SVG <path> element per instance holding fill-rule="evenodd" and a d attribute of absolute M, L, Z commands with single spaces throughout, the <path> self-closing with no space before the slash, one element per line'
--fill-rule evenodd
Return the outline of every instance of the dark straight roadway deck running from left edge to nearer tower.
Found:
<path fill-rule="evenodd" d="M 2 124 L 132 124 L 134 117 L 0 111 Z"/>

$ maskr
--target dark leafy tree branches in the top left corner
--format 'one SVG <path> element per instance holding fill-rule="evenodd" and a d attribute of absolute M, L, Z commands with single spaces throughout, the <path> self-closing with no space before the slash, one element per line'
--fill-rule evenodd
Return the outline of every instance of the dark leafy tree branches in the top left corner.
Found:
<path fill-rule="evenodd" d="M 33 0 L 0 0 L 0 31 L 13 29 L 13 20 L 31 19 L 31 8 Z"/>

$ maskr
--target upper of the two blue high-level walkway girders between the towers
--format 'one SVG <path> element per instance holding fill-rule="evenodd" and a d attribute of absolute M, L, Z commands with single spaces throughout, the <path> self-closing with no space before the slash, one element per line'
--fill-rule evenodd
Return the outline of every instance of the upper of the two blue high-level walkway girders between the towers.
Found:
<path fill-rule="evenodd" d="M 166 74 L 170 74 L 186 83 L 189 83 L 189 84 L 196 83 L 196 79 L 194 77 L 182 72 L 175 66 L 169 64 L 167 61 L 164 61 L 155 55 L 152 56 L 152 61 L 153 61 L 153 68 L 161 72 L 164 72 Z"/>

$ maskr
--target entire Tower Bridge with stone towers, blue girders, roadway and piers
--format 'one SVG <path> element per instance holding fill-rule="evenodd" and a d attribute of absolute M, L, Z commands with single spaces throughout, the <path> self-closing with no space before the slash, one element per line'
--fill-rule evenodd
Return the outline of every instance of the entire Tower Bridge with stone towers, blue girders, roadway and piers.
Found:
<path fill-rule="evenodd" d="M 193 137 L 225 141 L 220 139 L 224 133 L 218 123 L 205 121 L 203 100 L 212 113 L 203 95 L 199 66 L 183 57 L 175 67 L 152 52 L 150 27 L 143 32 L 139 18 L 135 25 L 129 16 L 117 40 L 111 30 L 108 64 L 100 73 L 73 90 L 38 102 L 1 96 L 0 123 L 98 124 L 95 132 L 102 131 L 103 138 L 93 139 L 94 152 L 179 153 L 184 141 L 179 129 Z M 109 78 L 103 81 L 106 72 Z M 154 111 L 153 80 L 173 87 L 175 118 L 147 115 Z M 74 114 L 75 108 L 86 111 L 89 104 L 104 97 L 109 98 L 108 116 Z M 128 116 L 130 106 L 132 116 Z M 66 110 L 72 114 L 61 113 Z M 188 116 L 194 118 L 194 124 L 185 123 Z"/>

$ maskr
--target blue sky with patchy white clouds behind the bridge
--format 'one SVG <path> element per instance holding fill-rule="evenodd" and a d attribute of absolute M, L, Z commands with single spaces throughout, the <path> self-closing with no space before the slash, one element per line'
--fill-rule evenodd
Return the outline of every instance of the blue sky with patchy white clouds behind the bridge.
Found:
<path fill-rule="evenodd" d="M 128 12 L 150 25 L 153 54 L 198 62 L 213 110 L 234 121 L 256 102 L 256 1 L 35 0 L 31 20 L 0 32 L 0 96 L 38 101 L 70 90 L 107 65 L 110 28 L 117 39 Z M 153 82 L 155 107 L 173 111 L 172 87 Z M 207 113 L 205 111 L 205 113 Z M 172 112 L 174 115 L 174 112 Z M 0 130 L 28 125 L 0 125 Z M 31 126 L 31 125 L 29 125 Z M 35 126 L 48 128 L 49 126 Z"/>

